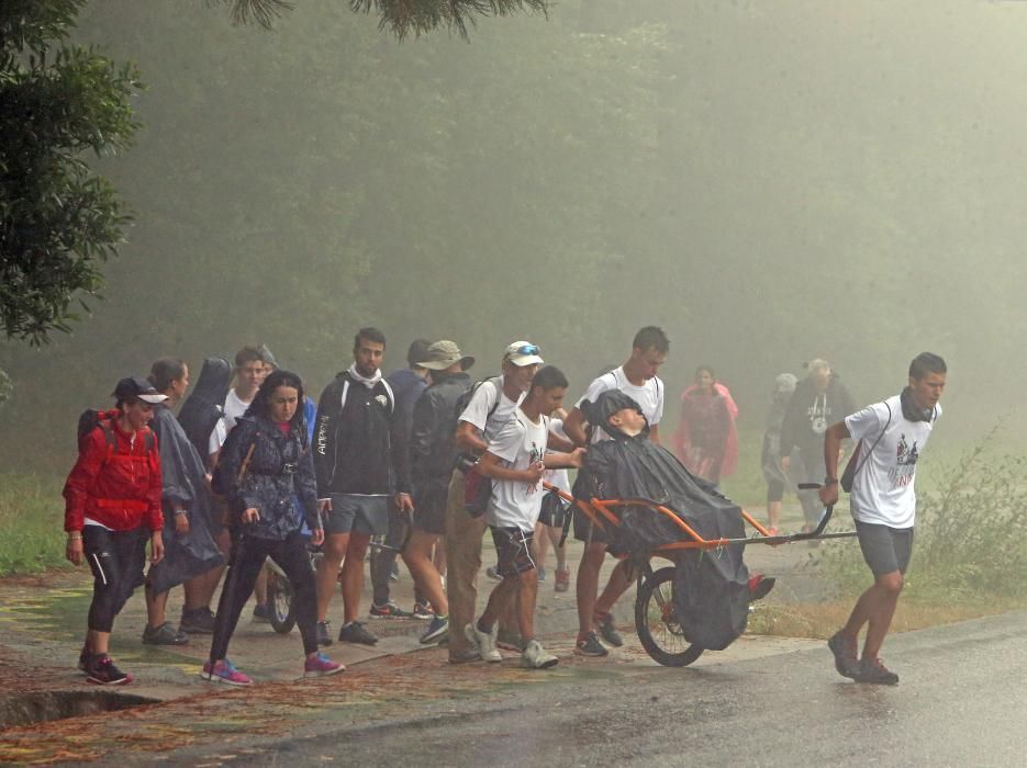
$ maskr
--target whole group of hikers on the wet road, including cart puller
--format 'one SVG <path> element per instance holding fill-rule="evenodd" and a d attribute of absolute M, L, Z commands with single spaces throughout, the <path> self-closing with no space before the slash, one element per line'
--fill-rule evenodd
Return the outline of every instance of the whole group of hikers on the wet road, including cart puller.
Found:
<path fill-rule="evenodd" d="M 147 379 L 122 379 L 112 395 L 113 409 L 82 415 L 79 455 L 64 492 L 67 557 L 75 564 L 86 561 L 93 575 L 79 667 L 90 682 L 131 681 L 132 676 L 112 662 L 109 641 L 115 617 L 134 589 L 144 586 L 143 643 L 181 645 L 190 635 L 210 634 L 201 676 L 250 685 L 227 651 L 250 596 L 256 597 L 254 619 L 269 617 L 265 574 L 270 558 L 291 585 L 305 654 L 303 675 L 343 671 L 343 665 L 322 648 L 336 640 L 378 642 L 359 621 L 366 555 L 377 537 L 381 545 L 371 557 L 371 617 L 424 619 L 421 642 L 448 640 L 451 664 L 500 662 L 504 648 L 517 651 L 525 667 L 548 668 L 559 659 L 536 637 L 534 613 L 549 544 L 557 553 L 555 588 L 569 589 L 560 535 L 565 515 L 573 516 L 574 538 L 584 543 L 576 584 L 574 652 L 605 656 L 607 646 L 623 643 L 612 611 L 630 586 L 629 563 L 618 562 L 600 591 L 600 569 L 609 550 L 616 549 L 607 541 L 609 531 L 581 509 L 567 509 L 544 490 L 544 484 L 567 494 L 571 490 L 567 470 L 584 470 L 578 473 L 582 485 L 576 485 L 574 496 L 610 498 L 603 494 L 617 485 L 615 464 L 630 461 L 624 456 L 634 451 L 643 464 L 665 465 L 672 479 L 729 504 L 716 488 L 717 477 L 703 476 L 719 473 L 723 452 L 717 456 L 708 449 L 704 452 L 702 440 L 695 439 L 699 430 L 689 436 L 679 427 L 676 433 L 684 463 L 659 445 L 665 393 L 657 373 L 669 351 L 660 328 L 640 329 L 627 360 L 596 377 L 568 411 L 562 407 L 567 377 L 545 364 L 542 350 L 529 341 L 515 341 L 503 350 L 499 375 L 475 381 L 468 371 L 476 360 L 457 343 L 417 340 L 408 352 L 408 368 L 386 377 L 381 371 L 386 337 L 370 327 L 357 331 L 353 363 L 324 388 L 316 405 L 302 379 L 279 368 L 266 347 L 243 348 L 234 366 L 224 361 L 219 366 L 219 359 L 209 359 L 178 418 L 171 408 L 190 384 L 183 361 L 161 358 Z M 862 445 L 862 458 L 855 465 L 850 462 L 856 474 L 851 499 L 875 581 L 830 647 L 842 675 L 893 682 L 897 676 L 891 679 L 893 674 L 877 654 L 912 550 L 913 474 L 940 414 L 937 399 L 945 363 L 929 353 L 919 355 L 911 366 L 909 387 L 900 397 L 856 411 L 825 394 L 833 381 L 826 363 L 823 385 L 815 381 L 823 374 L 822 362 L 811 364 L 813 405 L 801 407 L 796 400 L 803 384 L 796 387 L 794 379 L 784 382 L 796 391 L 783 408 L 778 407 L 780 426 L 772 430 L 773 425 L 768 425 L 768 500 L 775 496 L 778 502 L 777 510 L 770 508 L 770 522 L 777 527 L 786 475 L 793 468 L 789 466 L 793 445 L 806 475 L 823 474 L 819 497 L 814 492 L 810 502 L 818 505 L 837 498 L 841 441 L 851 437 L 868 443 Z M 234 385 L 223 400 L 216 395 L 220 402 L 213 404 L 211 418 L 199 395 L 202 391 L 210 399 L 210 393 L 217 392 L 210 382 L 230 377 Z M 697 372 L 696 387 L 699 396 L 715 394 L 723 399 L 710 369 Z M 685 407 L 682 397 L 682 423 Z M 736 414 L 737 408 L 729 414 L 728 433 L 734 432 Z M 813 441 L 818 452 L 803 440 L 805 422 L 818 437 Z M 621 444 L 617 441 L 623 441 L 624 450 L 606 450 Z M 595 464 L 592 475 L 590 453 Z M 768 455 L 778 458 L 773 477 L 767 471 Z M 692 461 L 694 476 L 686 468 Z M 614 465 L 607 466 L 606 475 L 600 471 L 602 462 Z M 489 575 L 499 584 L 477 614 L 487 530 L 496 557 Z M 311 545 L 322 552 L 316 567 Z M 389 596 L 397 555 L 414 579 L 412 611 L 401 609 Z M 214 611 L 211 602 L 222 578 Z M 337 584 L 343 621 L 335 635 L 327 615 Z M 175 628 L 167 620 L 166 605 L 169 591 L 179 585 L 183 607 Z M 761 575 L 744 580 L 744 605 L 763 597 L 772 586 L 773 579 Z M 856 639 L 868 621 L 860 659 Z"/>

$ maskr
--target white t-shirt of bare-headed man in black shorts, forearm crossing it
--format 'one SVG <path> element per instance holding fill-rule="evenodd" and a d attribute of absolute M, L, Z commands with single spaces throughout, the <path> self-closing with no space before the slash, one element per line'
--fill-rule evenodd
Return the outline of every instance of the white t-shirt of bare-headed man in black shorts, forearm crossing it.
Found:
<path fill-rule="evenodd" d="M 500 458 L 500 466 L 526 470 L 546 455 L 548 439 L 548 417 L 540 416 L 538 423 L 535 423 L 516 408 L 499 434 L 489 441 L 489 453 Z M 528 485 L 521 481 L 493 479 L 485 522 L 533 531 L 538 522 L 543 494 L 540 482 Z"/>

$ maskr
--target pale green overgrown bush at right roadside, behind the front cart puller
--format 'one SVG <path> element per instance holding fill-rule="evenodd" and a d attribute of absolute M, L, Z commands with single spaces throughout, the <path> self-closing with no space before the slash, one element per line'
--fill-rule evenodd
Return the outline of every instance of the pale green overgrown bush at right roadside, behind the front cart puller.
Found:
<path fill-rule="evenodd" d="M 992 455 L 992 430 L 972 451 L 940 464 L 940 481 L 918 494 L 916 542 L 906 597 L 926 601 L 1016 596 L 1011 577 L 1027 565 L 1027 459 Z M 816 567 L 845 592 L 870 585 L 855 542 L 825 546 Z"/>

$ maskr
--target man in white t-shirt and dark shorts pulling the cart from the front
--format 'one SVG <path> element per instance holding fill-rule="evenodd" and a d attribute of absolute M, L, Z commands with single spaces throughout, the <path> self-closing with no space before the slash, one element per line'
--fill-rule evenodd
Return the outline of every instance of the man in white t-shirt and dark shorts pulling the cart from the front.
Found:
<path fill-rule="evenodd" d="M 873 585 L 857 600 L 846 625 L 827 642 L 838 674 L 857 682 L 898 682 L 898 675 L 885 667 L 878 654 L 913 554 L 916 466 L 941 416 L 938 400 L 947 373 L 945 360 L 937 354 L 916 355 L 909 364 L 908 385 L 901 394 L 847 416 L 824 436 L 827 475 L 819 498 L 825 505 L 838 500 L 841 441 L 850 437 L 859 441 L 859 452 L 850 463 L 849 505 Z M 863 655 L 857 660 L 859 633 L 864 624 Z"/>

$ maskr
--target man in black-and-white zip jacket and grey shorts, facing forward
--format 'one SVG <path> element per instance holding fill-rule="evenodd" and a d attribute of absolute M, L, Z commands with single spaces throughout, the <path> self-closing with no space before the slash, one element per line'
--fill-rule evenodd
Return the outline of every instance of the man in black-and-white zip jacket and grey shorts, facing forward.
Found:
<path fill-rule="evenodd" d="M 378 642 L 357 621 L 364 557 L 371 537 L 388 532 L 390 504 L 401 512 L 413 510 L 403 415 L 381 375 L 384 353 L 384 334 L 361 328 L 354 338 L 353 365 L 335 376 L 317 403 L 314 468 L 319 506 L 325 515 L 324 557 L 317 564 L 317 642 L 322 645 L 332 643 L 327 614 L 337 580 L 343 584 L 344 612 L 339 641 Z"/>

